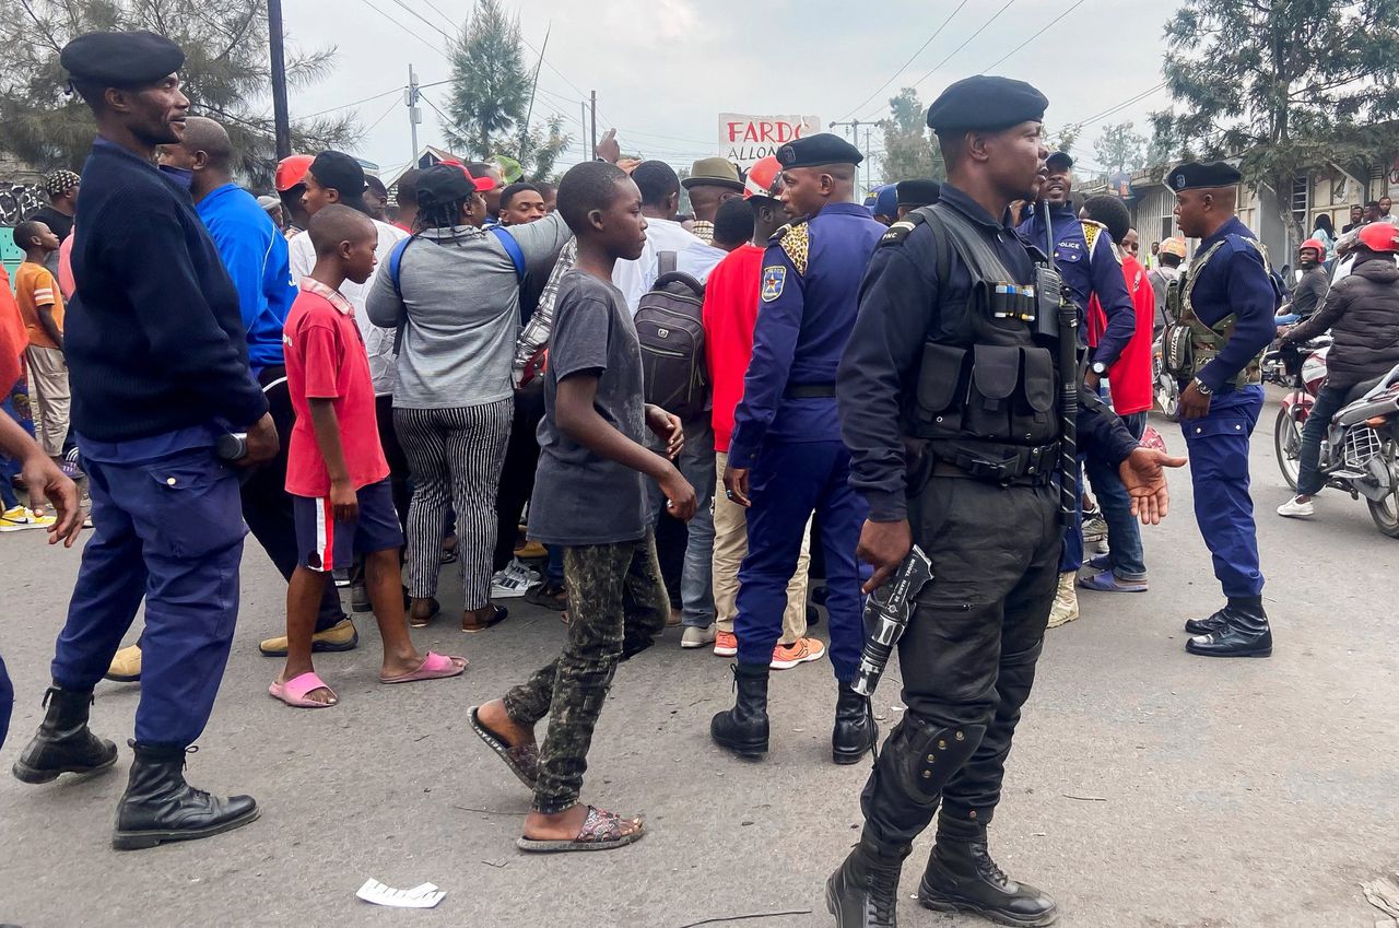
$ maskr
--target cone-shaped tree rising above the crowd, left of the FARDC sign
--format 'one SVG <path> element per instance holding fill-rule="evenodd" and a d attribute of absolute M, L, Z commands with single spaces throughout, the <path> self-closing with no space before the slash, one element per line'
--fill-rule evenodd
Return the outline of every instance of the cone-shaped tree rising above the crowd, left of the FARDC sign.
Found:
<path fill-rule="evenodd" d="M 564 118 L 526 125 L 534 81 L 525 67 L 519 17 L 501 0 L 477 0 L 452 48 L 452 95 L 442 132 L 476 160 L 509 155 L 525 176 L 543 181 L 572 144 Z"/>

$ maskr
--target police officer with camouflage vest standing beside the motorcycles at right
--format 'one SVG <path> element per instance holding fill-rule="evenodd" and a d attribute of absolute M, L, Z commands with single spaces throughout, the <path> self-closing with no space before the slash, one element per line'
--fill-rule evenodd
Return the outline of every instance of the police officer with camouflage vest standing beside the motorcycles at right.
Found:
<path fill-rule="evenodd" d="M 1195 519 L 1214 557 L 1214 577 L 1228 600 L 1209 619 L 1192 619 L 1185 649 L 1210 658 L 1266 658 L 1273 633 L 1263 612 L 1258 528 L 1248 494 L 1248 438 L 1263 410 L 1260 358 L 1277 335 L 1279 293 L 1267 253 L 1234 216 L 1238 169 L 1224 161 L 1172 168 L 1181 232 L 1199 238 L 1181 276 L 1181 332 L 1192 350 L 1172 365 L 1181 377 L 1181 431 L 1191 454 Z M 1167 332 L 1167 343 L 1181 343 Z M 1167 364 L 1171 365 L 1171 353 Z"/>

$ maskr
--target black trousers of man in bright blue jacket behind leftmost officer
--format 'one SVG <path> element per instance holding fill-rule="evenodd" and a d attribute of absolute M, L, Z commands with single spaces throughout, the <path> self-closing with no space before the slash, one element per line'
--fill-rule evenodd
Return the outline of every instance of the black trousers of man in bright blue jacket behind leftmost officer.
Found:
<path fill-rule="evenodd" d="M 297 570 L 297 522 L 291 509 L 291 494 L 287 493 L 287 448 L 291 445 L 291 427 L 297 413 L 291 409 L 291 392 L 287 389 L 287 368 L 266 368 L 257 381 L 267 396 L 269 412 L 277 426 L 277 456 L 257 466 L 242 486 L 243 521 L 277 565 L 277 572 L 291 579 Z M 336 627 L 346 617 L 340 606 L 340 593 L 334 584 L 326 584 L 320 596 L 320 612 L 316 613 L 316 631 Z"/>

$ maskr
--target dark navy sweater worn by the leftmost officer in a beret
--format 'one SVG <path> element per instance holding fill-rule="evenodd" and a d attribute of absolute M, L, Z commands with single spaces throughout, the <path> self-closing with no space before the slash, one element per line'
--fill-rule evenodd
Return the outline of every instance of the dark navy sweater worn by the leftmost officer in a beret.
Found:
<path fill-rule="evenodd" d="M 189 192 L 98 139 L 83 167 L 64 318 L 73 427 L 130 441 L 267 412 L 238 291 Z"/>

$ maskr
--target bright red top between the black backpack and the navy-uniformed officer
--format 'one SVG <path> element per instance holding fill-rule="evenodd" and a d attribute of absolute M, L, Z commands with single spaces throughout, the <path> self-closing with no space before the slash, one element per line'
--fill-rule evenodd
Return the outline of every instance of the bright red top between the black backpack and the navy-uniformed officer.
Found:
<path fill-rule="evenodd" d="M 713 389 L 713 449 L 727 452 L 733 412 L 743 399 L 743 375 L 753 360 L 764 249 L 743 244 L 720 260 L 704 291 L 704 344 Z"/>

